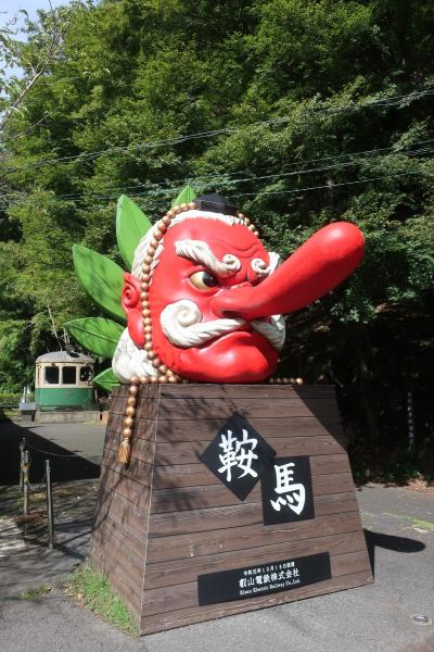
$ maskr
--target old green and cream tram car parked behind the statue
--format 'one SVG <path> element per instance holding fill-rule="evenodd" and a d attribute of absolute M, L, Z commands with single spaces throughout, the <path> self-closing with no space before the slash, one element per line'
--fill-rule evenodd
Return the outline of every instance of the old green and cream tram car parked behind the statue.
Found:
<path fill-rule="evenodd" d="M 93 359 L 84 353 L 54 351 L 36 360 L 37 410 L 86 410 L 94 404 Z"/>

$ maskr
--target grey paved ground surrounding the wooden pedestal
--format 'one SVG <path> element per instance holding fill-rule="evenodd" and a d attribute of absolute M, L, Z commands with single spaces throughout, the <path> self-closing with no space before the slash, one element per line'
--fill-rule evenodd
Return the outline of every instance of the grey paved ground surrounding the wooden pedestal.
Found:
<path fill-rule="evenodd" d="M 94 463 L 103 428 L 75 432 L 38 428 L 44 446 L 66 453 L 74 448 Z M 92 472 L 86 468 L 82 475 Z M 61 588 L 64 573 L 86 554 L 95 487 L 92 477 L 59 485 L 55 553 L 35 546 L 37 528 L 33 543 L 23 549 L 20 531 L 11 529 L 16 489 L 0 489 L 3 540 L 9 528 L 8 543 L 0 546 L 1 652 L 434 652 L 433 494 L 369 485 L 358 490 L 373 585 L 133 639 L 72 603 Z M 26 588 L 47 584 L 54 587 L 48 597 L 20 598 Z M 427 624 L 416 624 L 416 615 L 426 616 Z"/>

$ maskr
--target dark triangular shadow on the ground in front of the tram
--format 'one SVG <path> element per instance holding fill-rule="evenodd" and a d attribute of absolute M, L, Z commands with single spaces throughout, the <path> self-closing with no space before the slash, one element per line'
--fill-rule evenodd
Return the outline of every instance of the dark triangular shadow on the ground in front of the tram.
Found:
<path fill-rule="evenodd" d="M 62 428 L 62 424 L 59 424 Z M 30 484 L 38 484 L 44 475 L 44 460 L 51 462 L 53 482 L 98 478 L 100 466 L 74 451 L 58 446 L 24 425 L 12 421 L 0 423 L 0 486 L 20 481 L 20 442 L 25 437 L 31 456 Z"/>

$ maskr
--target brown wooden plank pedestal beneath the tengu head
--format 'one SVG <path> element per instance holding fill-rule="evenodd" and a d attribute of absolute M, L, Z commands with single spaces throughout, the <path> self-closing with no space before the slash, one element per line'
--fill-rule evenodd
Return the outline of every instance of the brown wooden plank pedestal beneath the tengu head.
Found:
<path fill-rule="evenodd" d="M 110 412 L 91 561 L 141 634 L 372 581 L 333 387 L 142 386 L 124 468 L 116 455 L 127 396 L 118 388 Z M 241 502 L 200 461 L 235 411 L 278 456 L 309 456 L 314 519 L 265 526 L 260 481 Z M 330 579 L 199 605 L 199 575 L 321 552 L 330 553 Z"/>

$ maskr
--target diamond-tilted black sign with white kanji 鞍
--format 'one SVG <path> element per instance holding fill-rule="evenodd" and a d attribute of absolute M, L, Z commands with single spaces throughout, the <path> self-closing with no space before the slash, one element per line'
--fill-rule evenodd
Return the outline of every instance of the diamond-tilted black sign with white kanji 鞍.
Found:
<path fill-rule="evenodd" d="M 245 500 L 276 451 L 238 412 L 219 429 L 201 461 L 240 500 Z"/>

